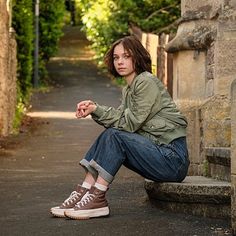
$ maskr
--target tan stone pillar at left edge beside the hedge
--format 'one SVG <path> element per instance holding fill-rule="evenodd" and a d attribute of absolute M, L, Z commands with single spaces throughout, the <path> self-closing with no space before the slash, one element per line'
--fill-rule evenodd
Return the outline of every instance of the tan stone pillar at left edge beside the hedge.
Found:
<path fill-rule="evenodd" d="M 6 136 L 12 131 L 16 107 L 16 41 L 6 1 L 0 1 L 0 12 L 0 136 Z"/>

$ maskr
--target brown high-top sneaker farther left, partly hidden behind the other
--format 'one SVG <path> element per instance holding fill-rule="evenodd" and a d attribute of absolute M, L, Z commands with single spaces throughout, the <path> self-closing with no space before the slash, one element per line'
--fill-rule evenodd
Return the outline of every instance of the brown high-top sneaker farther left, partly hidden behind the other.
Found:
<path fill-rule="evenodd" d="M 60 206 L 51 208 L 51 213 L 57 217 L 65 217 L 65 210 L 73 209 L 76 203 L 80 202 L 83 197 L 86 197 L 86 193 L 88 193 L 88 191 L 89 189 L 78 185 L 76 191 L 73 191 Z"/>

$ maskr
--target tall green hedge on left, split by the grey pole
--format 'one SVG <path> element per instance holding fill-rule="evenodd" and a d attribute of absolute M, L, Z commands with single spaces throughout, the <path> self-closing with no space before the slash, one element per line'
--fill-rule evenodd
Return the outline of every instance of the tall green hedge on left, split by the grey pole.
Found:
<path fill-rule="evenodd" d="M 14 127 L 17 128 L 23 117 L 33 77 L 34 50 L 34 1 L 13 0 L 12 26 L 17 41 L 17 107 Z M 41 84 L 47 74 L 46 63 L 57 52 L 58 41 L 62 36 L 65 13 L 64 0 L 40 0 L 39 17 L 39 72 Z"/>

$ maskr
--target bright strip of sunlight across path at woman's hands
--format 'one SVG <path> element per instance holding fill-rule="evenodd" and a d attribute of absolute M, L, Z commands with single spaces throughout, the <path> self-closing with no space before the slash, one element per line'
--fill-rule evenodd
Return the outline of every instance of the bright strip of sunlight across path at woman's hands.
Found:
<path fill-rule="evenodd" d="M 34 112 L 28 112 L 28 116 L 30 117 L 37 117 L 37 118 L 53 118 L 53 119 L 77 119 L 75 116 L 75 112 L 67 112 L 67 111 L 34 111 Z M 92 119 L 91 116 L 87 116 L 83 119 Z"/>

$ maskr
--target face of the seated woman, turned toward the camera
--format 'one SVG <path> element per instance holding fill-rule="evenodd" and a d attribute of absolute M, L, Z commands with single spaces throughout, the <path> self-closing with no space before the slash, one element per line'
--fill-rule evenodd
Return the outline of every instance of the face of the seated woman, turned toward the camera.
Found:
<path fill-rule="evenodd" d="M 126 79 L 133 79 L 135 77 L 134 63 L 129 52 L 124 49 L 122 43 L 114 48 L 113 63 L 117 73 Z"/>

